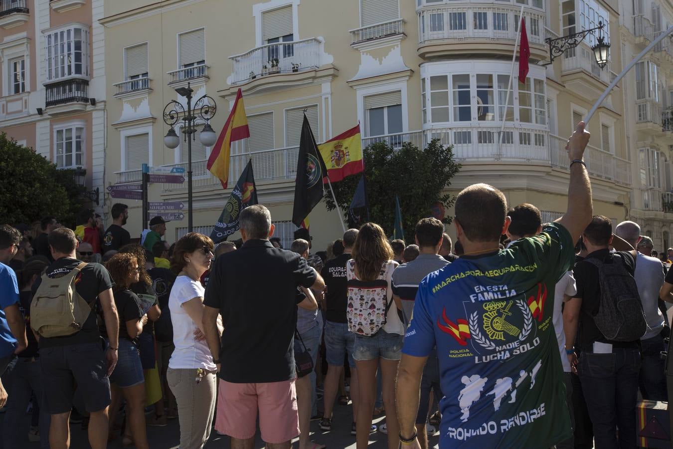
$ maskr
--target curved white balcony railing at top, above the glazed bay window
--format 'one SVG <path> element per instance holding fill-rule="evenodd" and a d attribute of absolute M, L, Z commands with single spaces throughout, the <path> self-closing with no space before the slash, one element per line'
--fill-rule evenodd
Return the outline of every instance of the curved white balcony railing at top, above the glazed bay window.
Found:
<path fill-rule="evenodd" d="M 419 43 L 444 39 L 509 39 L 514 42 L 518 35 L 519 11 L 518 7 L 505 5 L 421 9 Z M 544 13 L 524 11 L 524 17 L 528 41 L 544 44 Z"/>

